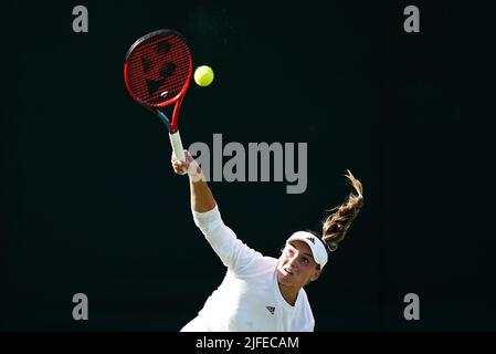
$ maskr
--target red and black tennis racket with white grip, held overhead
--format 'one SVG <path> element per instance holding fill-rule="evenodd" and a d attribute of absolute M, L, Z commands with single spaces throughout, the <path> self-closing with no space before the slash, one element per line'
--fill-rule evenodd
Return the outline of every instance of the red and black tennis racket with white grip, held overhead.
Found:
<path fill-rule="evenodd" d="M 158 30 L 138 39 L 127 51 L 124 81 L 131 97 L 166 125 L 176 158 L 186 162 L 178 116 L 191 81 L 191 52 L 173 30 Z M 165 107 L 173 104 L 172 118 Z"/>

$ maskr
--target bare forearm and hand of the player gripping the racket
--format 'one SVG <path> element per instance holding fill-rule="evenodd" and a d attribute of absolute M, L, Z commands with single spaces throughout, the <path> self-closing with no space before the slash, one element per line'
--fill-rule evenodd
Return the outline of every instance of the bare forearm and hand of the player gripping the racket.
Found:
<path fill-rule="evenodd" d="M 204 178 L 203 171 L 188 150 L 184 150 L 186 162 L 172 157 L 172 167 L 176 174 L 188 173 L 190 183 L 191 208 L 193 211 L 205 212 L 215 207 L 212 190 Z"/>

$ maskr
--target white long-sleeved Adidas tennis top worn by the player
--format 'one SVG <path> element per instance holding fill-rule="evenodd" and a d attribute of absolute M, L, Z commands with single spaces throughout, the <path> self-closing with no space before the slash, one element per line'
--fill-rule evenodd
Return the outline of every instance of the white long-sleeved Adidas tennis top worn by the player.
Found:
<path fill-rule="evenodd" d="M 277 259 L 263 257 L 224 225 L 218 206 L 193 212 L 194 223 L 228 271 L 198 316 L 181 332 L 312 332 L 315 320 L 305 290 L 294 306 L 281 294 Z"/>

